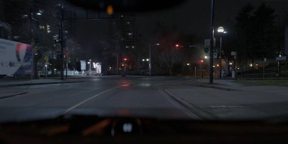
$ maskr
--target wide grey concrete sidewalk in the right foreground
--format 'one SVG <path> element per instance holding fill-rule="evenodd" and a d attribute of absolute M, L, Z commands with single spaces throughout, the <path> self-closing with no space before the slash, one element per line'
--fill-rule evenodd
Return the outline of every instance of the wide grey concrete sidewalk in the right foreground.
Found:
<path fill-rule="evenodd" d="M 286 116 L 288 89 L 241 86 L 241 91 L 203 87 L 169 88 L 165 92 L 202 119 L 257 120 Z"/>

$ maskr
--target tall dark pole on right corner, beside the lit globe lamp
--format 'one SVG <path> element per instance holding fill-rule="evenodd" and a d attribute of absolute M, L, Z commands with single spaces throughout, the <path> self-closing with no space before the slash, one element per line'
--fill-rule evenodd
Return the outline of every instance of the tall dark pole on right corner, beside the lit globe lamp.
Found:
<path fill-rule="evenodd" d="M 214 40 L 214 0 L 211 0 L 211 28 L 210 28 L 210 74 L 209 83 L 213 83 L 213 42 Z"/>

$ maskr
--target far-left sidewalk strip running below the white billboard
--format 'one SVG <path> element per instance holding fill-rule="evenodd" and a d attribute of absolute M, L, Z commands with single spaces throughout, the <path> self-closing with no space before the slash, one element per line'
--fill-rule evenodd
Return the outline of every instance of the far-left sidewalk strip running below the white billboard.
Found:
<path fill-rule="evenodd" d="M 10 86 L 23 86 L 23 85 L 45 85 L 45 84 L 58 84 L 58 83 L 74 83 L 74 82 L 85 82 L 83 80 L 60 80 L 57 79 L 33 79 L 33 80 L 11 80 L 11 81 L 0 81 L 0 87 Z"/>

